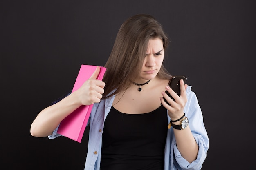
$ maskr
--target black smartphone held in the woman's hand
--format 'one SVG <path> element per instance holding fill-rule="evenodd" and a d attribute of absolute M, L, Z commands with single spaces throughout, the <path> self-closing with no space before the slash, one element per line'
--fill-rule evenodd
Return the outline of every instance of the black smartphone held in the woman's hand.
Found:
<path fill-rule="evenodd" d="M 175 76 L 172 76 L 171 79 L 170 79 L 170 81 L 169 81 L 169 83 L 168 83 L 168 86 L 170 86 L 170 87 L 173 89 L 173 91 L 175 91 L 175 93 L 177 93 L 177 95 L 179 95 L 179 96 L 180 96 L 180 80 L 181 80 L 181 79 L 183 79 L 184 84 L 185 84 L 185 82 L 186 82 L 186 76 L 184 76 L 184 75 L 175 75 Z M 173 97 L 170 95 L 170 93 L 169 93 L 168 91 L 165 91 L 165 93 L 167 93 L 167 95 L 168 95 L 169 97 L 171 97 L 171 99 L 173 99 Z M 175 101 L 175 99 L 173 99 L 173 100 Z M 165 101 L 168 105 L 170 105 L 170 104 L 166 101 L 165 98 L 164 98 L 164 101 Z M 161 105 L 162 105 L 162 103 L 161 103 Z"/>

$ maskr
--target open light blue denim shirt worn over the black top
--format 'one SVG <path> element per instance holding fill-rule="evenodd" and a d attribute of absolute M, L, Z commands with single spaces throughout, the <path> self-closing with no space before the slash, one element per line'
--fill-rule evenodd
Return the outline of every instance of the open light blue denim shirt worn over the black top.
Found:
<path fill-rule="evenodd" d="M 200 170 L 209 148 L 209 138 L 204 127 L 202 111 L 198 104 L 195 93 L 191 91 L 191 86 L 188 86 L 186 89 L 186 95 L 188 102 L 186 103 L 184 112 L 186 113 L 186 117 L 189 119 L 189 127 L 195 138 L 195 141 L 199 146 L 197 159 L 192 163 L 189 163 L 181 156 L 176 146 L 173 128 L 170 128 L 167 132 L 166 146 L 164 151 L 164 170 Z M 90 132 L 88 152 L 85 161 L 85 170 L 100 169 L 101 140 L 104 121 L 110 111 L 114 98 L 115 96 L 106 100 L 101 100 L 101 102 L 94 104 L 92 108 L 90 119 L 88 121 L 88 124 L 90 122 Z M 170 122 L 169 116 L 168 122 Z M 54 139 L 58 136 L 61 136 L 57 133 L 57 130 L 58 127 L 54 130 L 52 135 L 48 136 L 49 139 Z"/>

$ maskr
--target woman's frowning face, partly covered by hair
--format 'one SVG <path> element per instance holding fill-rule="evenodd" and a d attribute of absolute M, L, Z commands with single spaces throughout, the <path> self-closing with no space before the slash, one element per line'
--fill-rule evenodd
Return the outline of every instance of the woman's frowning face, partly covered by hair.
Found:
<path fill-rule="evenodd" d="M 150 39 L 144 62 L 136 83 L 144 83 L 145 80 L 153 79 L 159 72 L 164 60 L 164 47 L 160 38 Z"/>

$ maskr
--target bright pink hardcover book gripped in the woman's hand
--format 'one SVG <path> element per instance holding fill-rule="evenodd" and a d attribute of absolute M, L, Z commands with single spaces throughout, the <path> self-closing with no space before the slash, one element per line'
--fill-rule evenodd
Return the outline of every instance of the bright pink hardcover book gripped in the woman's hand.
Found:
<path fill-rule="evenodd" d="M 91 77 L 92 73 L 94 73 L 94 71 L 96 70 L 96 67 L 97 66 L 81 65 L 80 71 L 76 77 L 76 82 L 72 89 L 72 93 L 79 89 L 83 85 L 83 83 Z M 100 73 L 97 79 L 102 80 L 106 68 L 103 66 L 99 67 Z M 81 143 L 83 132 L 90 117 L 92 106 L 93 104 L 89 106 L 80 106 L 70 115 L 68 115 L 65 119 L 61 121 L 61 124 L 58 128 L 58 133 Z"/>

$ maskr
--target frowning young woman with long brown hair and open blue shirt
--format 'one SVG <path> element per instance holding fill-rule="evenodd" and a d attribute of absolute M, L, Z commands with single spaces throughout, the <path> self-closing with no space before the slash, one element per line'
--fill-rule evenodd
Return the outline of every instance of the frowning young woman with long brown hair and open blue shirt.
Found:
<path fill-rule="evenodd" d="M 31 135 L 58 137 L 67 115 L 94 104 L 85 170 L 200 170 L 209 148 L 202 112 L 191 86 L 181 80 L 180 96 L 167 86 L 171 75 L 162 65 L 167 45 L 152 16 L 128 18 L 103 81 L 96 80 L 97 68 L 81 88 L 38 114 Z"/>

